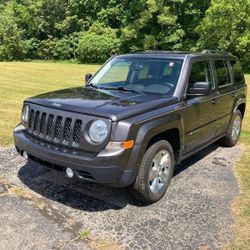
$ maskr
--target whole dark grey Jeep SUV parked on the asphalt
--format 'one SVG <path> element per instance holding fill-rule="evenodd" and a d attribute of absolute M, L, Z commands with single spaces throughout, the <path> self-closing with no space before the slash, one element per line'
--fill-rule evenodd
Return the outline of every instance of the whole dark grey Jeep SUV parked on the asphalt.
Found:
<path fill-rule="evenodd" d="M 175 165 L 217 140 L 239 139 L 246 84 L 230 53 L 120 55 L 86 79 L 24 102 L 14 130 L 21 155 L 155 202 Z"/>

